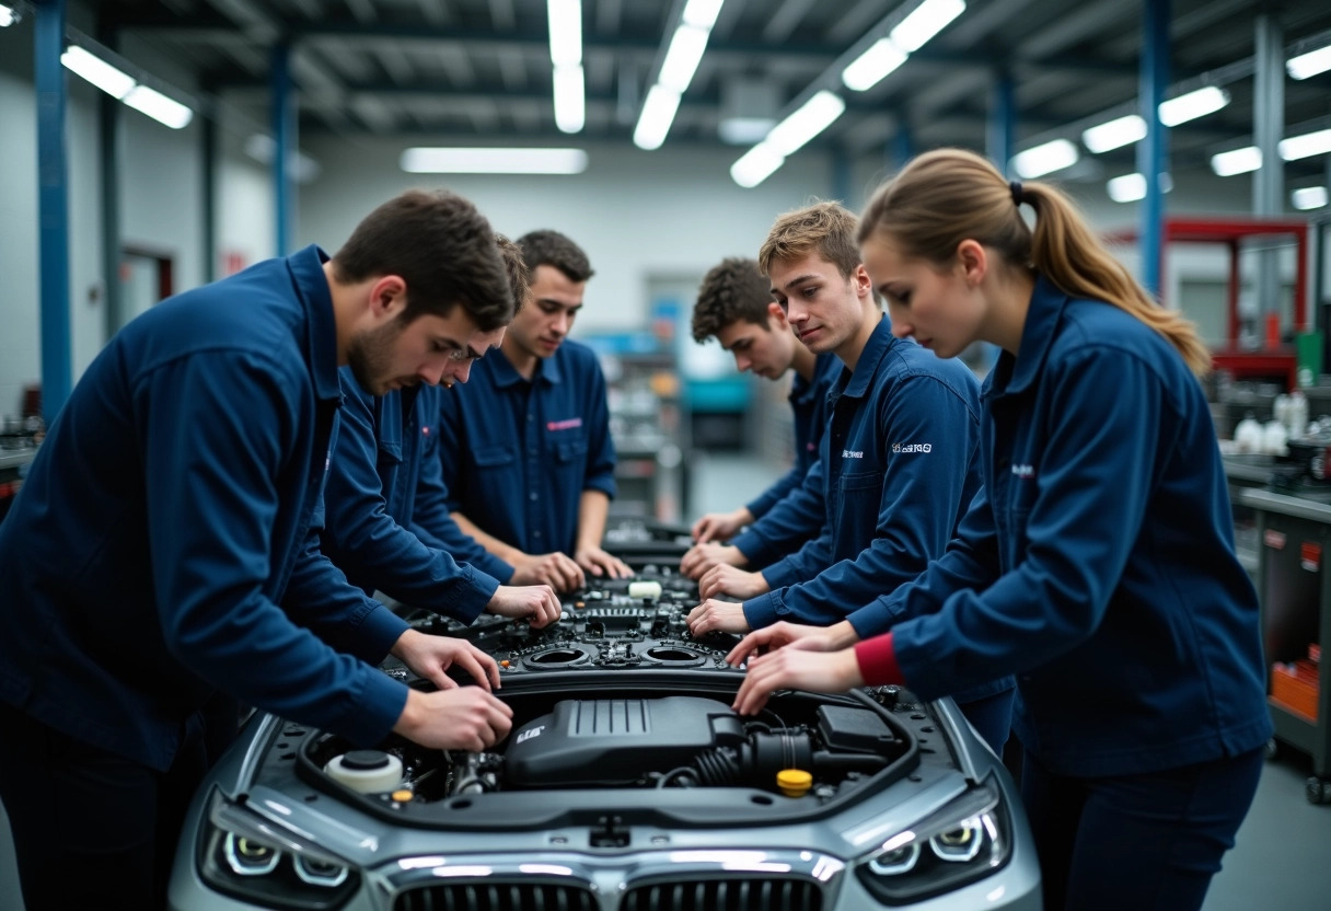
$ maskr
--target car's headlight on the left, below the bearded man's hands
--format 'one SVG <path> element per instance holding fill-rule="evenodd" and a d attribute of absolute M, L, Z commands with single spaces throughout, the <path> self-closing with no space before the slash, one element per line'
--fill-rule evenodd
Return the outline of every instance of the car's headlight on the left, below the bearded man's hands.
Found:
<path fill-rule="evenodd" d="M 224 810 L 225 807 L 225 810 Z M 269 908 L 331 911 L 359 887 L 359 874 L 334 858 L 303 848 L 261 819 L 213 796 L 198 839 L 198 872 L 210 887 Z M 237 831 L 238 830 L 238 831 Z"/>

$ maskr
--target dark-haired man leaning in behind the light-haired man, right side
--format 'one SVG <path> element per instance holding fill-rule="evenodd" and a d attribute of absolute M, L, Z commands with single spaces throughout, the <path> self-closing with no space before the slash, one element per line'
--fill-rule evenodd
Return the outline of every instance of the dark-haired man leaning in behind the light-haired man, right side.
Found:
<path fill-rule="evenodd" d="M 684 554 L 680 571 L 697 579 L 717 563 L 761 569 L 819 534 L 823 491 L 804 482 L 817 461 L 827 426 L 827 396 L 841 373 L 841 361 L 831 352 L 815 354 L 800 344 L 785 312 L 772 300 L 767 276 L 757 262 L 743 257 L 723 260 L 703 278 L 692 332 L 699 344 L 716 338 L 735 356 L 740 372 L 780 380 L 795 370 L 789 396 L 795 463 L 752 502 L 729 513 L 708 513 L 693 523 L 697 543 Z M 749 527 L 740 534 L 744 526 Z M 728 545 L 719 542 L 727 538 Z"/>

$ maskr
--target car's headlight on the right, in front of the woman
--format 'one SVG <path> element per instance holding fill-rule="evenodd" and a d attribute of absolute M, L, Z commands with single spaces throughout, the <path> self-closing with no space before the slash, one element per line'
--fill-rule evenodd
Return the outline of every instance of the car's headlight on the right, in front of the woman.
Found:
<path fill-rule="evenodd" d="M 1001 870 L 1012 858 L 1012 826 L 997 786 L 982 784 L 886 839 L 857 866 L 885 904 L 950 892 Z"/>

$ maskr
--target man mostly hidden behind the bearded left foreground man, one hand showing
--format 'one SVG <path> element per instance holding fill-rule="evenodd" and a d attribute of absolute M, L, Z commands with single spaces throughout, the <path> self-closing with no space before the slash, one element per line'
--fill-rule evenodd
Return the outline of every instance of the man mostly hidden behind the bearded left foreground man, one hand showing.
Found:
<path fill-rule="evenodd" d="M 496 237 L 515 312 L 527 298 L 528 273 L 516 244 Z M 471 364 L 496 346 L 503 326 L 450 360 L 439 386 L 414 385 L 371 396 L 350 368 L 338 370 L 342 414 L 323 491 L 319 547 L 366 594 L 381 590 L 414 607 L 463 623 L 482 611 L 530 617 L 540 627 L 559 619 L 544 579 L 526 578 L 458 529 L 439 479 L 442 386 L 466 382 Z M 500 585 L 503 582 L 503 585 Z"/>

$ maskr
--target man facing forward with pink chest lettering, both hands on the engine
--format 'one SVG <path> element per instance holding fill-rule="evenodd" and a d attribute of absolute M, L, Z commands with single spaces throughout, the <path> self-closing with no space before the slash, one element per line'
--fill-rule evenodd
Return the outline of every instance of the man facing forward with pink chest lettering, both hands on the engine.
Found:
<path fill-rule="evenodd" d="M 602 546 L 615 495 L 606 378 L 596 354 L 568 340 L 591 264 L 554 230 L 518 238 L 531 301 L 466 389 L 443 396 L 439 457 L 453 517 L 491 554 L 522 567 L 555 559 L 554 579 L 627 577 Z M 551 558 L 551 554 L 555 557 Z"/>

